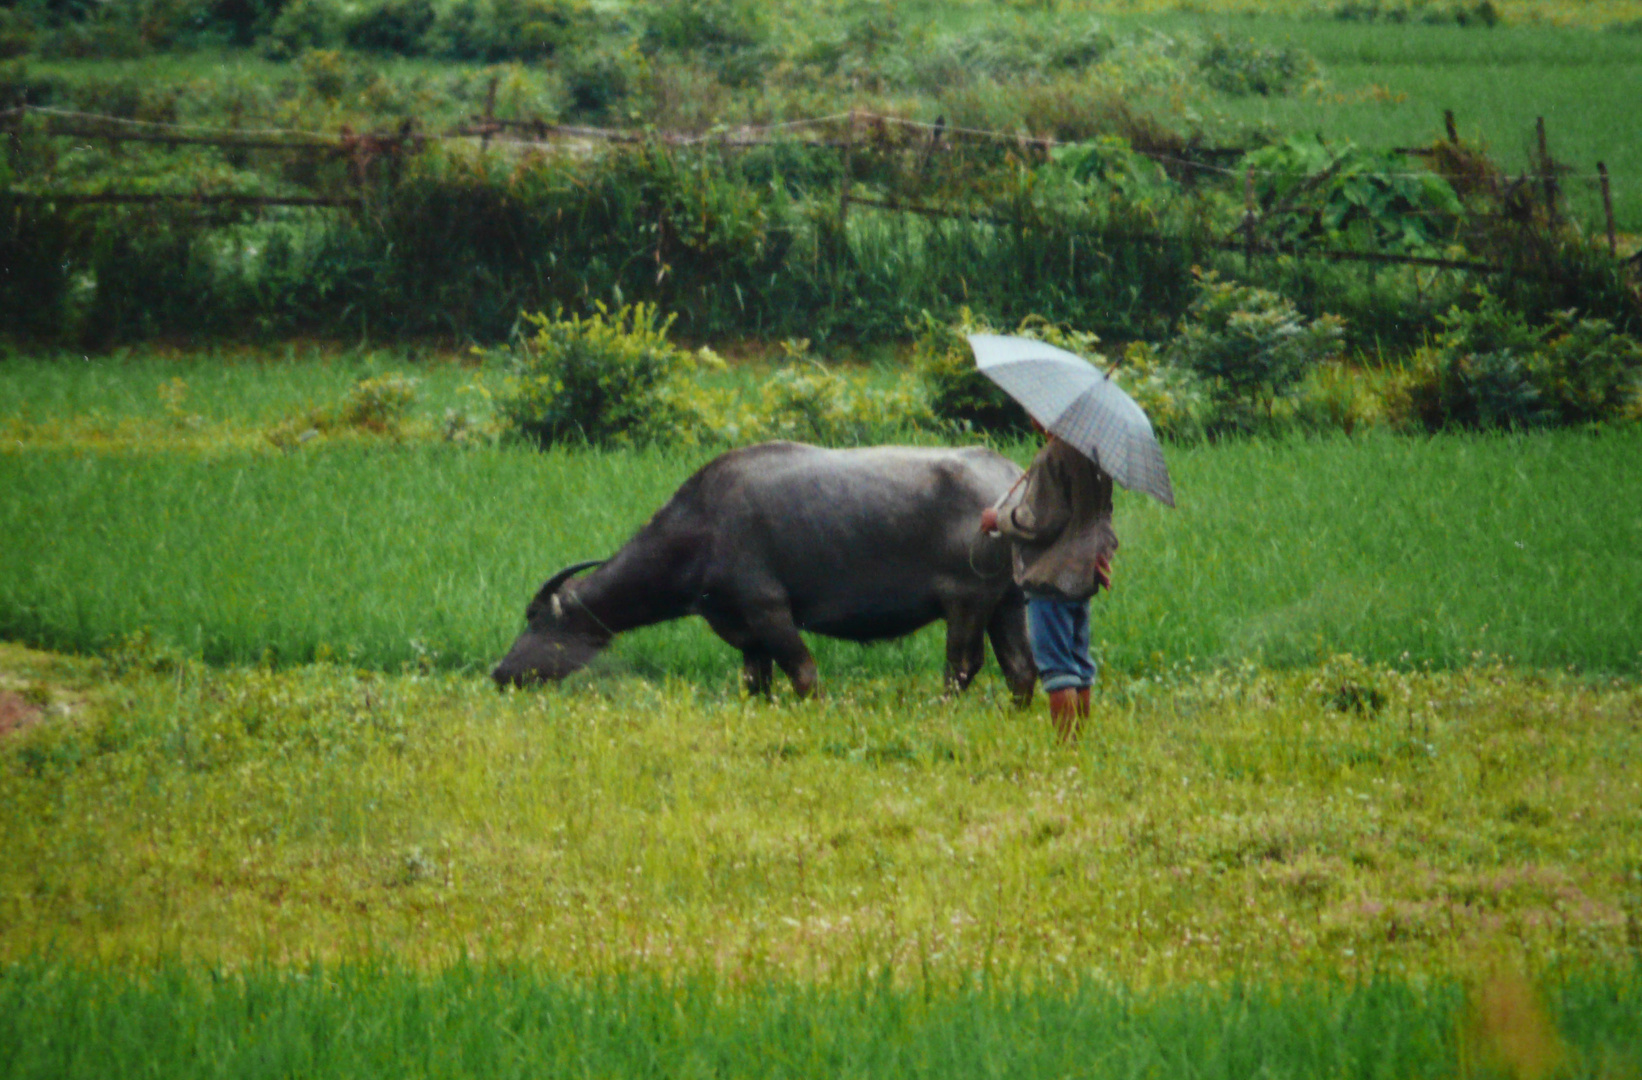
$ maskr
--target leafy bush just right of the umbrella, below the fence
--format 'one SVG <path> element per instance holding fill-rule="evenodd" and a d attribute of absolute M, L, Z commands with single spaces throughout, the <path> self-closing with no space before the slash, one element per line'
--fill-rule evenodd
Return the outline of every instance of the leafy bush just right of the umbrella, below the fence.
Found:
<path fill-rule="evenodd" d="M 1333 315 L 1307 320 L 1276 292 L 1209 272 L 1164 356 L 1209 384 L 1220 422 L 1241 423 L 1254 419 L 1238 415 L 1250 405 L 1269 419 L 1307 369 L 1340 351 L 1343 335 Z"/>

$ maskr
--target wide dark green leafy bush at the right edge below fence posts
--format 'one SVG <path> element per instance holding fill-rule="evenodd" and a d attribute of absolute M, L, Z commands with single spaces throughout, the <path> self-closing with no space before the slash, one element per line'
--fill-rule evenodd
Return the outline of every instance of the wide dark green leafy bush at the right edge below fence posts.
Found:
<path fill-rule="evenodd" d="M 1429 430 L 1530 428 L 1632 415 L 1642 345 L 1603 318 L 1560 312 L 1534 327 L 1481 291 L 1473 309 L 1442 317 L 1397 387 L 1396 410 Z"/>

